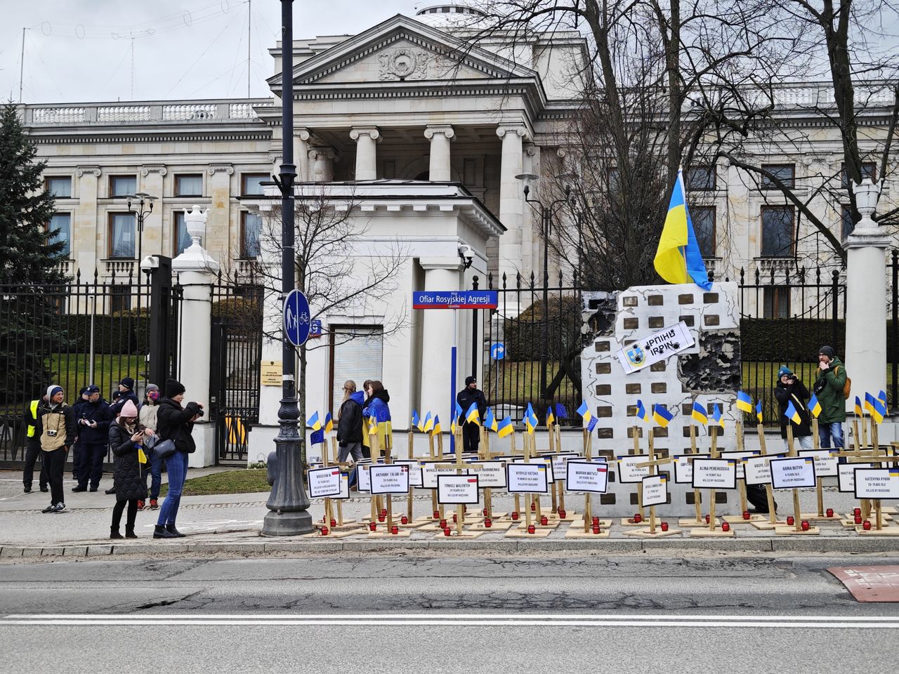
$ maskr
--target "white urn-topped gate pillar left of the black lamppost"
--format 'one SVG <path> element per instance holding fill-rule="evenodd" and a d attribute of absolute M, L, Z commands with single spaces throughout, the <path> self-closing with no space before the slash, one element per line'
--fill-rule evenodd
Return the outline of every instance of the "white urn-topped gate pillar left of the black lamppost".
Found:
<path fill-rule="evenodd" d="M 185 401 L 203 405 L 206 415 L 193 426 L 197 451 L 190 455 L 189 466 L 215 464 L 215 424 L 209 422 L 209 335 L 212 330 L 212 284 L 218 262 L 200 245 L 209 210 L 194 206 L 185 218 L 193 244 L 172 261 L 172 272 L 183 288 L 182 335 L 187 336 L 179 350 L 180 381 L 187 389 Z"/>

